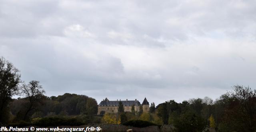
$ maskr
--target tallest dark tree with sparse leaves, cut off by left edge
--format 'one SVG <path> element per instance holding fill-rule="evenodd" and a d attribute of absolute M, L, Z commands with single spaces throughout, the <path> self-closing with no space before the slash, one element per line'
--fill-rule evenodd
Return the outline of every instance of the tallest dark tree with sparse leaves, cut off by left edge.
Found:
<path fill-rule="evenodd" d="M 0 57 L 0 124 L 8 122 L 9 103 L 19 91 L 20 72 L 4 57 Z"/>

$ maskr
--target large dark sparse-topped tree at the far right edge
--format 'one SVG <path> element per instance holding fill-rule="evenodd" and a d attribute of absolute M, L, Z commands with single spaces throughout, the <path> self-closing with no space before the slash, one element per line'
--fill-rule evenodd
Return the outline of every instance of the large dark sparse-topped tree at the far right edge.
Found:
<path fill-rule="evenodd" d="M 220 97 L 220 102 L 224 106 L 220 126 L 238 132 L 256 130 L 256 89 L 235 85 L 233 91 Z"/>

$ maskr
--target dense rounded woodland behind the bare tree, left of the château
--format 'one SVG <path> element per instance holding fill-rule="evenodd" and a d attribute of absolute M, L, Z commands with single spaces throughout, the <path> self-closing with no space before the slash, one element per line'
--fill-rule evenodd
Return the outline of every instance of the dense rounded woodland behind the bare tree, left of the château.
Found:
<path fill-rule="evenodd" d="M 26 120 L 26 118 L 48 117 L 55 115 L 72 116 L 72 115 L 95 115 L 97 114 L 98 105 L 95 99 L 86 95 L 76 95 L 65 93 L 58 97 L 42 96 L 33 106 L 27 117 L 28 98 L 13 99 L 10 103 L 10 111 L 16 117 L 14 120 Z"/>

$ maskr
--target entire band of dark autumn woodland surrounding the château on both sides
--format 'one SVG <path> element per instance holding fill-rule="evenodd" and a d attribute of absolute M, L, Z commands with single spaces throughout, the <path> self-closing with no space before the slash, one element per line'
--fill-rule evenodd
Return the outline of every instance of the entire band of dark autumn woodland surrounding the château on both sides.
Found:
<path fill-rule="evenodd" d="M 155 106 L 150 113 L 124 112 L 120 102 L 118 113 L 96 115 L 95 99 L 86 95 L 65 93 L 45 96 L 39 81 L 24 83 L 12 63 L 0 58 L 0 123 L 1 125 L 81 125 L 88 123 L 125 124 L 144 120 L 152 124 L 172 124 L 178 132 L 202 132 L 215 128 L 218 132 L 256 132 L 256 90 L 235 85 L 233 90 L 215 101 L 209 97 L 174 100 Z M 18 99 L 12 99 L 20 95 Z"/>

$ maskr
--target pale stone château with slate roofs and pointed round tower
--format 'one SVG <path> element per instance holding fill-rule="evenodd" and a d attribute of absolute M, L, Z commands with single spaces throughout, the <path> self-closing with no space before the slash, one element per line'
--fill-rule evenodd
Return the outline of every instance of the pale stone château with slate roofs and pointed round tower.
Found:
<path fill-rule="evenodd" d="M 118 105 L 121 100 L 116 101 L 109 101 L 107 98 L 100 102 L 98 105 L 98 115 L 101 115 L 103 113 L 118 113 Z M 143 112 L 149 112 L 149 103 L 147 99 L 145 98 L 142 105 L 140 102 L 135 99 L 134 101 L 121 101 L 124 105 L 124 111 L 126 112 L 132 112 L 132 105 L 134 105 L 135 111 L 140 111 L 140 107 L 142 106 Z M 103 112 L 104 111 L 104 112 Z"/>

